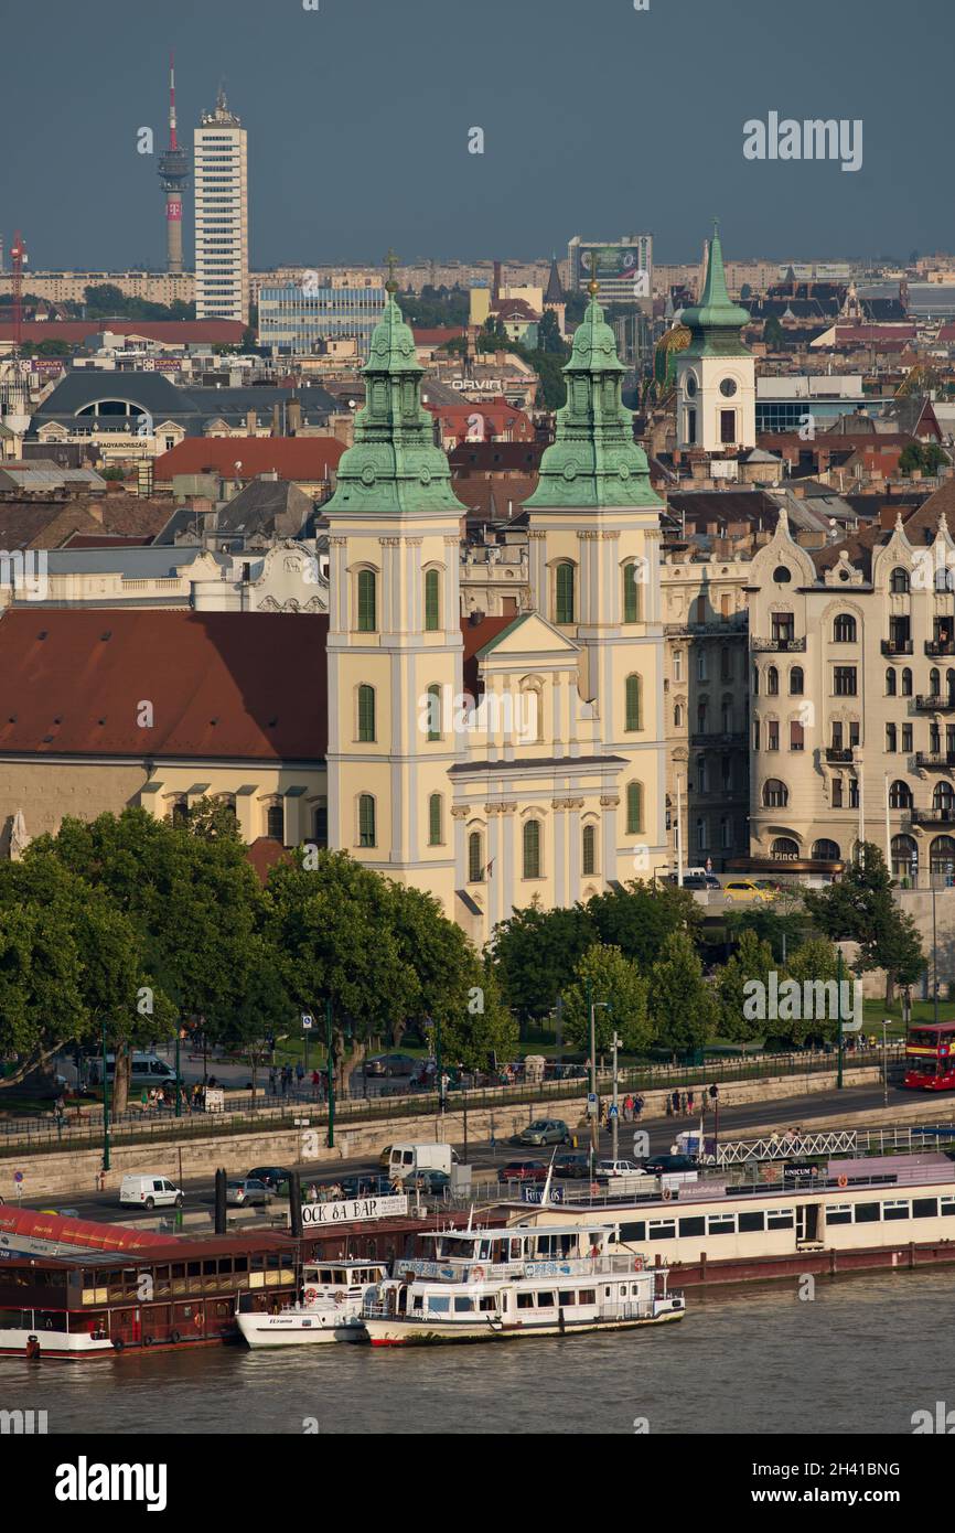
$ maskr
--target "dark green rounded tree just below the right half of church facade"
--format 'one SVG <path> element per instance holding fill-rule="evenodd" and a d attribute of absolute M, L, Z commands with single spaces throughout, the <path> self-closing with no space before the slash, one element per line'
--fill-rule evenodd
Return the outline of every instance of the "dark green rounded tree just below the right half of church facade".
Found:
<path fill-rule="evenodd" d="M 595 941 L 583 906 L 541 909 L 535 898 L 495 926 L 489 952 L 504 1004 L 521 1021 L 547 1016 Z"/>

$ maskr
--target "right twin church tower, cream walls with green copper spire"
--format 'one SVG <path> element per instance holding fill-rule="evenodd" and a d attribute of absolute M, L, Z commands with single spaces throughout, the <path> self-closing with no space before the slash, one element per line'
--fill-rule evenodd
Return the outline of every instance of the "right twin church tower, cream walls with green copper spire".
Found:
<path fill-rule="evenodd" d="M 622 881 L 665 862 L 662 501 L 621 403 L 625 368 L 593 279 L 589 293 L 564 368 L 556 440 L 524 509 L 533 606 L 579 647 L 570 754 L 586 737 L 586 750 L 621 762 L 618 793 L 601 806 L 604 877 Z"/>

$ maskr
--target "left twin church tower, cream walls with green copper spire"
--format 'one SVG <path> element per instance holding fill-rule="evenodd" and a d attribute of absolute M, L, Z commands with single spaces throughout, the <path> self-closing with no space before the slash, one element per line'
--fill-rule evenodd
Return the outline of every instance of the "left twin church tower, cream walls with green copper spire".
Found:
<path fill-rule="evenodd" d="M 420 399 L 423 368 L 388 300 L 330 524 L 328 840 L 454 914 L 449 768 L 461 745 L 458 550 L 464 507 Z"/>

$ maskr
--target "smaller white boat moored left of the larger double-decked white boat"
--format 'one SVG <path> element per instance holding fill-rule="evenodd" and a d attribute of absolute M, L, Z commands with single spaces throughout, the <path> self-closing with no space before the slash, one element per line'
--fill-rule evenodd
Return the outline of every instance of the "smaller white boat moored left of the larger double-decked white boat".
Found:
<path fill-rule="evenodd" d="M 274 1315 L 239 1311 L 236 1321 L 250 1346 L 365 1341 L 362 1306 L 386 1277 L 383 1262 L 305 1263 L 297 1305 L 288 1305 Z"/>

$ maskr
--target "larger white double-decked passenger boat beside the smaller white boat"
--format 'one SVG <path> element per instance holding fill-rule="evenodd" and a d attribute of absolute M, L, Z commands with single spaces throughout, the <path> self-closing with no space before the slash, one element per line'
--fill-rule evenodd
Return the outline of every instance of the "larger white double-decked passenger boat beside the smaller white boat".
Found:
<path fill-rule="evenodd" d="M 682 1320 L 667 1269 L 618 1252 L 613 1226 L 497 1226 L 426 1236 L 434 1259 L 399 1260 L 369 1292 L 362 1318 L 372 1346 L 503 1341 L 625 1331 Z"/>

